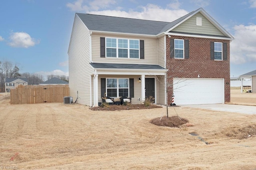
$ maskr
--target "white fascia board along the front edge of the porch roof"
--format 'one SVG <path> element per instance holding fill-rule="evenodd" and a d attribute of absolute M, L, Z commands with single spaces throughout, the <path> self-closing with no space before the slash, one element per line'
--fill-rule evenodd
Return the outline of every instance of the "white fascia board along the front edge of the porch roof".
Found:
<path fill-rule="evenodd" d="M 95 69 L 94 73 L 97 72 L 97 74 L 110 74 L 110 75 L 152 75 L 152 76 L 160 76 L 160 75 L 165 75 L 165 72 L 168 70 L 138 70 L 138 69 L 107 69 L 107 68 L 102 68 L 102 69 Z"/>

